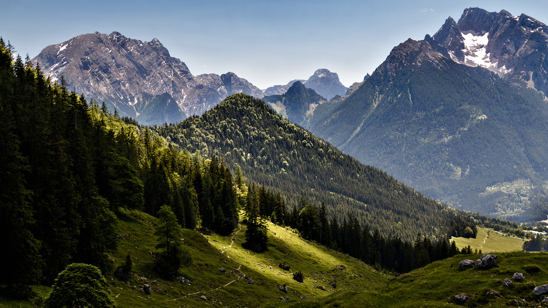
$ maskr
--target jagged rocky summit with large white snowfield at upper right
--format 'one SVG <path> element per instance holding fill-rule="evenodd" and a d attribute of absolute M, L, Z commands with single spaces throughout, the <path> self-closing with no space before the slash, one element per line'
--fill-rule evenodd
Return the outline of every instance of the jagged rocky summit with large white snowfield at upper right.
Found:
<path fill-rule="evenodd" d="M 486 67 L 514 83 L 548 91 L 548 26 L 530 16 L 469 8 L 459 22 L 449 16 L 433 38 L 456 62 Z"/>

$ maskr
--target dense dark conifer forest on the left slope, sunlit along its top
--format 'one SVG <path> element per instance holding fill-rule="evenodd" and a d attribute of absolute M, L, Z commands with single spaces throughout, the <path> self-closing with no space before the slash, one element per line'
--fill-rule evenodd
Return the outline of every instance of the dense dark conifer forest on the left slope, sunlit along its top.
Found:
<path fill-rule="evenodd" d="M 166 204 L 182 227 L 232 231 L 241 172 L 133 124 L 0 39 L 0 290 L 29 296 L 75 262 L 111 270 L 120 207 L 156 215 Z"/>

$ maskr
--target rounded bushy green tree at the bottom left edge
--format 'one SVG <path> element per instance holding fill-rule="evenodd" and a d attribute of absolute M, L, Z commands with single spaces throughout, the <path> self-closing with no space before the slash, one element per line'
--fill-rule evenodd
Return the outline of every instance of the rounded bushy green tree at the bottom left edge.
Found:
<path fill-rule="evenodd" d="M 114 308 L 105 277 L 98 267 L 73 263 L 59 273 L 44 308 Z"/>

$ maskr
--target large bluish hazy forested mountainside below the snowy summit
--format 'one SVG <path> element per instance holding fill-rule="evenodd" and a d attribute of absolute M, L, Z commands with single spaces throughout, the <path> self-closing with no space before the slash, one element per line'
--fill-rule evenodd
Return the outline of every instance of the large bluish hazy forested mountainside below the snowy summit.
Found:
<path fill-rule="evenodd" d="M 516 92 L 482 67 L 449 59 L 426 36 L 395 47 L 312 128 L 359 161 L 472 212 L 545 219 L 548 115 L 543 95 Z"/>

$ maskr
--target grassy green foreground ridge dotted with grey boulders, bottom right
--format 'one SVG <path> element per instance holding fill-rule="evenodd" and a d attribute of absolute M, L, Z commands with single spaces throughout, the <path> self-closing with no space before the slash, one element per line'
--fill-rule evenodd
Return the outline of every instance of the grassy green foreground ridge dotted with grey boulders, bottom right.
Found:
<path fill-rule="evenodd" d="M 265 307 L 477 307 L 515 305 L 513 300 L 517 300 L 520 306 L 538 306 L 544 295 L 534 296 L 533 290 L 535 286 L 548 283 L 548 254 L 498 255 L 498 267 L 489 270 L 460 269 L 460 260 L 475 260 L 479 254 L 457 255 L 401 275 L 375 290 L 339 292 L 304 303 L 276 303 Z M 527 273 L 523 266 L 528 264 L 538 265 L 541 272 Z M 511 279 L 515 272 L 522 272 L 526 276 L 525 282 L 514 282 L 510 287 L 504 287 L 504 279 Z M 498 293 L 488 295 L 488 290 Z M 469 295 L 470 303 L 455 303 L 454 296 L 459 293 Z"/>

